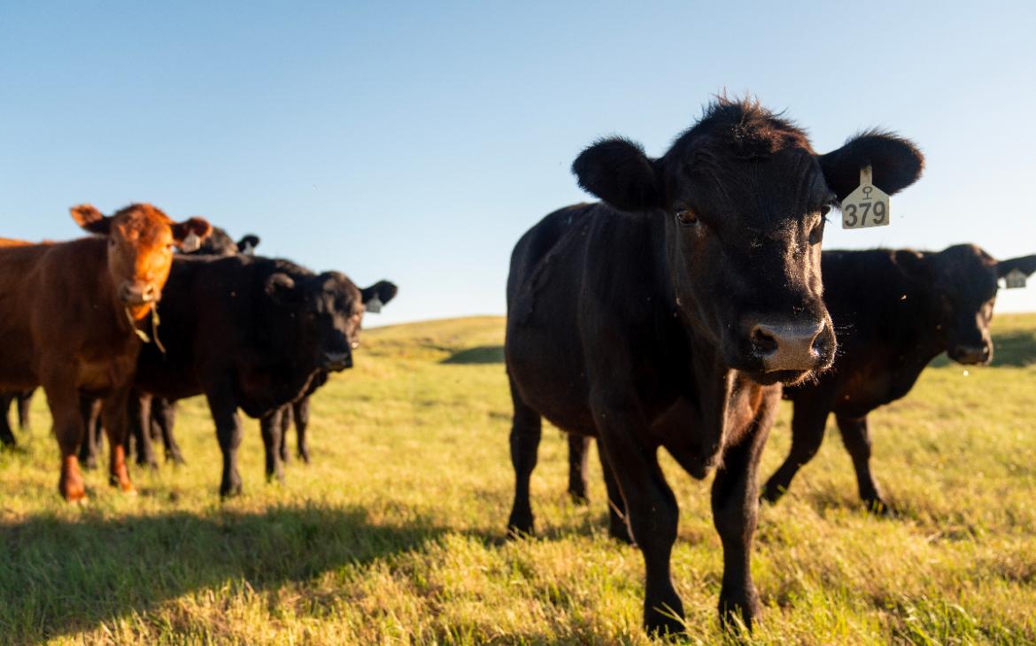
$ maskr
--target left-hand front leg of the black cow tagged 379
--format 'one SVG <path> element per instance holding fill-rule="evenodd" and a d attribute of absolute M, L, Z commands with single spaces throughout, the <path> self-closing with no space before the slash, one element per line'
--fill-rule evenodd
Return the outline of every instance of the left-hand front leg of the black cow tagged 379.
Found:
<path fill-rule="evenodd" d="M 632 392 L 632 388 L 630 389 Z M 649 423 L 627 392 L 595 392 L 598 451 L 618 481 L 633 539 L 644 559 L 644 626 L 651 634 L 684 632 L 684 605 L 672 586 L 669 560 L 680 509 L 658 464 L 658 447 L 645 443 Z"/>

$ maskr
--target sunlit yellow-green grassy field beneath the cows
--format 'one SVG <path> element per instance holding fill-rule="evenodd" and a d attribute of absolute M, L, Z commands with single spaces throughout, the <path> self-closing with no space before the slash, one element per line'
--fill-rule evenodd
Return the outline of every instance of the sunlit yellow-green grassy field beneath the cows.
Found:
<path fill-rule="evenodd" d="M 837 437 L 762 509 L 752 641 L 1036 642 L 1036 316 L 994 327 L 992 368 L 937 361 L 873 414 L 895 518 L 861 510 Z M 499 318 L 366 332 L 356 368 L 314 398 L 314 463 L 267 485 L 248 420 L 244 495 L 226 503 L 200 399 L 179 417 L 188 466 L 134 470 L 134 497 L 90 472 L 89 504 L 63 503 L 37 395 L 34 432 L 0 453 L 0 642 L 648 643 L 639 553 L 604 531 L 596 459 L 592 504 L 569 501 L 552 429 L 533 478 L 540 537 L 501 540 L 513 487 L 501 342 Z M 788 416 L 764 474 L 787 450 Z M 709 481 L 665 467 L 691 641 L 716 643 Z"/>

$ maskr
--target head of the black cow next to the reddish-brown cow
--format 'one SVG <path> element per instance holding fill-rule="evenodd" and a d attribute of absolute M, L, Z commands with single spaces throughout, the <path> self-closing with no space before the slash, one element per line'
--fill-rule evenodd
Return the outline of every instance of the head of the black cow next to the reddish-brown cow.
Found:
<path fill-rule="evenodd" d="M 297 280 L 275 273 L 266 289 L 275 301 L 297 312 L 297 345 L 311 355 L 313 365 L 334 372 L 352 368 L 366 306 L 374 299 L 388 302 L 396 295 L 392 283 L 382 281 L 361 290 L 337 271 Z"/>

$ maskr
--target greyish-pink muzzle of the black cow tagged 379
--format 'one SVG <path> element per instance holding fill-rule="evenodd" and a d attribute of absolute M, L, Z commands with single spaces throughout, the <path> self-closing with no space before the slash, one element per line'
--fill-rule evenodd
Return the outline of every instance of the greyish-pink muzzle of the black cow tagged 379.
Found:
<path fill-rule="evenodd" d="M 807 323 L 760 321 L 752 327 L 749 339 L 767 373 L 825 369 L 833 358 L 834 332 L 823 319 Z"/>

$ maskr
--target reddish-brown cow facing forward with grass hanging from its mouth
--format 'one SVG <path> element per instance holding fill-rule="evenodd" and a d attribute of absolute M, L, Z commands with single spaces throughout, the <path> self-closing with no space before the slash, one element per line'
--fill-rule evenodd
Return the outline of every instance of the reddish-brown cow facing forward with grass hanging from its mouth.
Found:
<path fill-rule="evenodd" d="M 123 443 L 141 337 L 153 331 L 148 315 L 169 276 L 173 246 L 197 244 L 211 226 L 200 217 L 174 223 L 150 204 L 111 216 L 82 205 L 71 216 L 97 235 L 0 245 L 0 390 L 42 386 L 61 449 L 58 491 L 81 500 L 80 392 L 104 399 L 110 481 L 133 491 Z"/>

